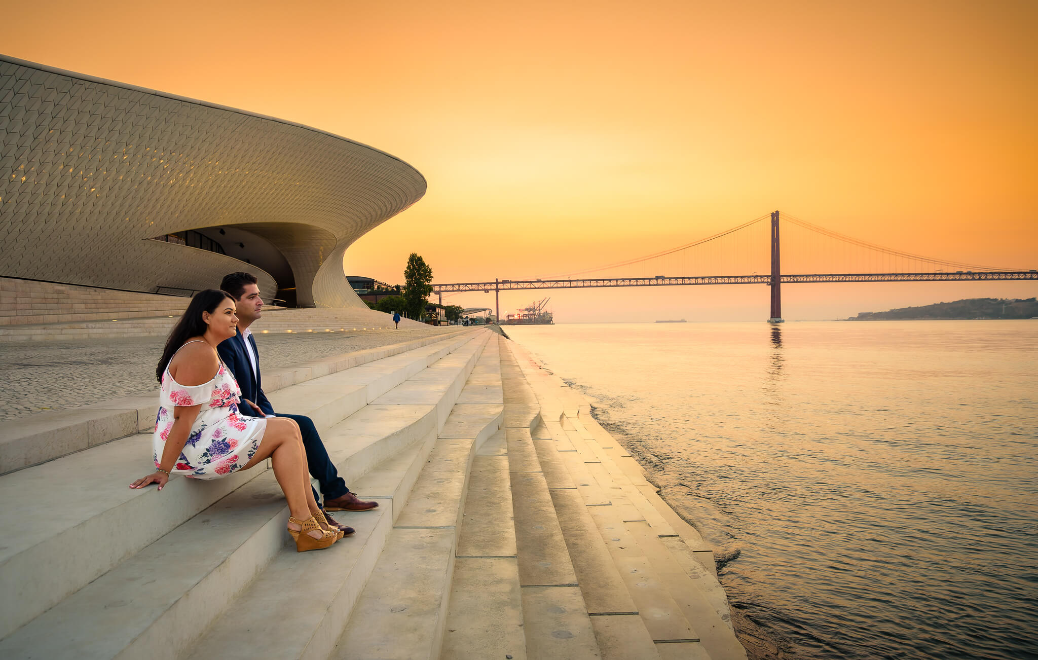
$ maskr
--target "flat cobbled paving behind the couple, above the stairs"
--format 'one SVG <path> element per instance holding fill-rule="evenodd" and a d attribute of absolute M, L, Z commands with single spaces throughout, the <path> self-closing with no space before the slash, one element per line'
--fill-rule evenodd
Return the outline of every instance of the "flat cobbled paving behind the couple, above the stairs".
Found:
<path fill-rule="evenodd" d="M 261 367 L 323 357 L 458 330 L 426 327 L 357 332 L 256 334 Z M 154 391 L 165 337 L 0 343 L 0 419 L 77 408 Z"/>

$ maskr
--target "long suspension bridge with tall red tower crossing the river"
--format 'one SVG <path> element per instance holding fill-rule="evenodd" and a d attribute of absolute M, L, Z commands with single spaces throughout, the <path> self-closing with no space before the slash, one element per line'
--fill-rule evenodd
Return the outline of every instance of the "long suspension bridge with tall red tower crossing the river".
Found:
<path fill-rule="evenodd" d="M 770 222 L 768 222 L 770 220 Z M 787 266 L 804 270 L 782 272 L 781 228 L 792 230 L 787 245 Z M 770 268 L 761 257 L 770 252 Z M 810 266 L 798 269 L 798 266 Z M 848 271 L 848 266 L 851 270 Z M 757 267 L 756 269 L 754 267 Z M 595 273 L 624 269 L 624 276 L 592 277 Z M 630 270 L 627 270 L 630 269 Z M 750 270 L 754 269 L 754 270 Z M 631 271 L 643 271 L 632 273 Z M 745 274 L 750 270 L 749 274 Z M 655 271 L 695 273 L 680 276 L 649 274 Z M 699 274 L 702 272 L 715 274 Z M 742 273 L 740 273 L 742 271 Z M 716 273 L 733 274 L 716 274 Z M 992 268 L 932 258 L 826 229 L 775 211 L 713 236 L 597 268 L 535 279 L 494 279 L 485 282 L 433 284 L 439 295 L 463 292 L 495 294 L 495 313 L 500 319 L 500 292 L 524 288 L 595 288 L 604 286 L 682 286 L 695 284 L 765 284 L 771 288 L 770 323 L 782 323 L 782 284 L 807 282 L 948 282 L 992 280 L 1038 280 L 1038 271 Z"/>

